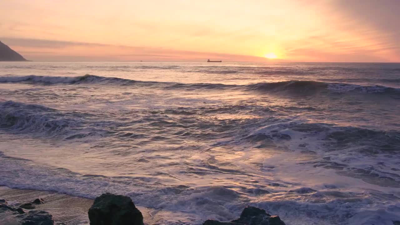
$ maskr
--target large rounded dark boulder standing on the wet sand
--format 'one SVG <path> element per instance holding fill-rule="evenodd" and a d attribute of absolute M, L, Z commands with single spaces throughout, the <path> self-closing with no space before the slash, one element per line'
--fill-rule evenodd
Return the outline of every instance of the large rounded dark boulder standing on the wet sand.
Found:
<path fill-rule="evenodd" d="M 130 197 L 105 193 L 89 209 L 90 225 L 143 225 L 143 215 Z"/>

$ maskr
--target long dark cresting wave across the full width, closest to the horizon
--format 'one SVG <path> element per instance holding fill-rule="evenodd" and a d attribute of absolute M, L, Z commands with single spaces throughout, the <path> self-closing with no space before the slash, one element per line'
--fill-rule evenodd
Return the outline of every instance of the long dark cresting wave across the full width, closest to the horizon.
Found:
<path fill-rule="evenodd" d="M 220 71 L 224 72 L 224 71 Z M 116 85 L 140 85 L 140 86 L 159 86 L 166 89 L 229 89 L 239 88 L 241 90 L 252 91 L 294 91 L 312 92 L 329 90 L 331 92 L 387 92 L 400 93 L 400 88 L 393 88 L 383 85 L 363 86 L 341 82 L 320 82 L 314 80 L 287 80 L 280 82 L 259 82 L 254 84 L 218 84 L 218 83 L 179 83 L 179 82 L 158 82 L 130 80 L 117 77 L 104 77 L 86 74 L 84 76 L 0 76 L 0 83 L 28 83 L 28 84 L 116 84 Z"/>

